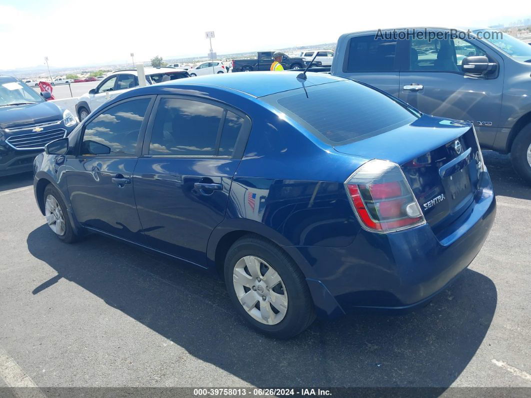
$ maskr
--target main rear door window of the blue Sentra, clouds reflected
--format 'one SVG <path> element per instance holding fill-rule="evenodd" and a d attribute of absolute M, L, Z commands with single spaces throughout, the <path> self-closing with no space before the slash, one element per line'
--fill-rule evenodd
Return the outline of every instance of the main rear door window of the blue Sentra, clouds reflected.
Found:
<path fill-rule="evenodd" d="M 153 123 L 149 155 L 215 156 L 225 109 L 180 98 L 162 98 Z"/>

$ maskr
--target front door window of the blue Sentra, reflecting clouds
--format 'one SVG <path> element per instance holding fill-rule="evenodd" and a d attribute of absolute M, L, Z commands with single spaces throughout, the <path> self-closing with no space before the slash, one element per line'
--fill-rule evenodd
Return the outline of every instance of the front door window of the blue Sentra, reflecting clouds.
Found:
<path fill-rule="evenodd" d="M 150 98 L 105 109 L 85 126 L 80 155 L 134 156 Z"/>

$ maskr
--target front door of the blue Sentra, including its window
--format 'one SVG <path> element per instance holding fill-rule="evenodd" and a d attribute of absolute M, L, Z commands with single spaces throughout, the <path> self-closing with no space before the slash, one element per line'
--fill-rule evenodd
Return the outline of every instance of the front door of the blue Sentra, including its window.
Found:
<path fill-rule="evenodd" d="M 147 124 L 144 116 L 154 100 L 121 101 L 84 124 L 79 155 L 66 160 L 68 194 L 83 226 L 142 242 L 132 177 Z"/>

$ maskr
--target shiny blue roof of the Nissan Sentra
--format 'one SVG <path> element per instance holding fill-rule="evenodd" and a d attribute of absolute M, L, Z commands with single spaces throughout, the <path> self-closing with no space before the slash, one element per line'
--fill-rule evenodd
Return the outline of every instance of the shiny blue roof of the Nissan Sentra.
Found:
<path fill-rule="evenodd" d="M 153 90 L 167 88 L 183 88 L 190 86 L 190 89 L 198 87 L 215 87 L 231 91 L 239 91 L 253 97 L 263 97 L 276 94 L 281 91 L 294 90 L 297 88 L 316 86 L 317 84 L 331 83 L 333 81 L 344 81 L 348 79 L 332 76 L 327 73 L 308 72 L 307 79 L 297 79 L 297 72 L 249 72 L 249 73 L 224 73 L 203 75 L 189 79 L 178 79 L 149 86 Z M 132 92 L 134 90 L 131 90 Z"/>

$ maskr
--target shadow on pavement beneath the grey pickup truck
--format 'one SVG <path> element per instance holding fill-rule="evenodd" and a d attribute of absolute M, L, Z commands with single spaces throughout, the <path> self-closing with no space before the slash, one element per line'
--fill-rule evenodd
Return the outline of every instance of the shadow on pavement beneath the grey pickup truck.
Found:
<path fill-rule="evenodd" d="M 484 150 L 483 159 L 496 195 L 531 200 L 531 187 L 512 168 L 510 155 Z"/>

